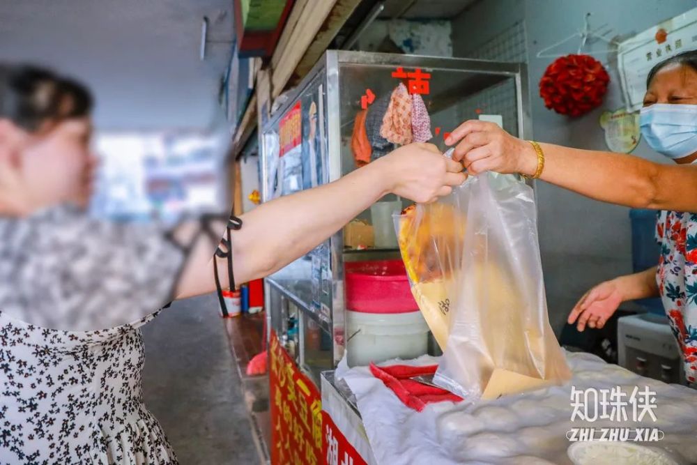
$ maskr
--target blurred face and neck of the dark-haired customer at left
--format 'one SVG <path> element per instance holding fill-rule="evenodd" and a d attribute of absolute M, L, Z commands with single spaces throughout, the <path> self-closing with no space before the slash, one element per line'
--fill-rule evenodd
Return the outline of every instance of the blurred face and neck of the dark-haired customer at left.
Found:
<path fill-rule="evenodd" d="M 91 121 L 69 119 L 29 133 L 0 124 L 0 211 L 29 215 L 63 202 L 86 206 L 93 158 Z"/>

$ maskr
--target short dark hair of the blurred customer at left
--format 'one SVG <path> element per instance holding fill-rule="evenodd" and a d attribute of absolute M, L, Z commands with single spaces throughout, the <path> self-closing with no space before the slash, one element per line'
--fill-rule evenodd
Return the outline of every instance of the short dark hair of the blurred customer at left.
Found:
<path fill-rule="evenodd" d="M 45 123 L 89 116 L 93 98 L 83 84 L 38 66 L 0 63 L 0 119 L 34 132 Z"/>

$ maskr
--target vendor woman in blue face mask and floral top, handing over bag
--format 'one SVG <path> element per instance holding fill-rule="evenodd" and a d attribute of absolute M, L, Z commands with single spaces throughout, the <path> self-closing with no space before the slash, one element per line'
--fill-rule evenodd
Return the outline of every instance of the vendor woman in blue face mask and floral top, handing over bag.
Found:
<path fill-rule="evenodd" d="M 684 359 L 697 381 L 697 50 L 659 63 L 649 73 L 641 132 L 675 164 L 659 165 L 618 153 L 585 151 L 516 139 L 497 125 L 466 121 L 447 144 L 469 174 L 521 173 L 592 199 L 660 210 L 658 266 L 590 289 L 569 323 L 602 328 L 620 303 L 661 296 Z"/>

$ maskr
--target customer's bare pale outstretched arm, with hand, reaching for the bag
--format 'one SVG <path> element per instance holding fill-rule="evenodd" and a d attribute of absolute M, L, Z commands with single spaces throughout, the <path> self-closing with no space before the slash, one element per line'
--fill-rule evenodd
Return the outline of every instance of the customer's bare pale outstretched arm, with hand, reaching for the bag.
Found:
<path fill-rule="evenodd" d="M 357 169 L 334 183 L 269 201 L 241 218 L 232 233 L 233 273 L 238 284 L 283 268 L 365 211 L 383 195 L 428 202 L 465 181 L 462 166 L 430 144 L 411 144 Z M 222 229 L 220 229 L 222 231 Z M 215 290 L 212 247 L 199 241 L 178 286 L 178 298 Z M 227 264 L 218 260 L 227 287 Z"/>

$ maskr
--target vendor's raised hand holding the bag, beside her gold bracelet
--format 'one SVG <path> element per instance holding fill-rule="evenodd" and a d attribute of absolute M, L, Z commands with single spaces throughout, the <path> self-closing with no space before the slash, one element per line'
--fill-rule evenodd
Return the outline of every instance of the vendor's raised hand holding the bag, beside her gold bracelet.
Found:
<path fill-rule="evenodd" d="M 505 132 L 496 123 L 465 121 L 450 133 L 445 144 L 457 144 L 452 158 L 461 161 L 468 174 L 497 171 L 533 175 L 537 170 L 537 153 L 533 146 Z"/>

